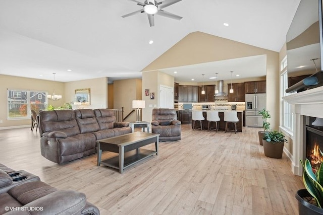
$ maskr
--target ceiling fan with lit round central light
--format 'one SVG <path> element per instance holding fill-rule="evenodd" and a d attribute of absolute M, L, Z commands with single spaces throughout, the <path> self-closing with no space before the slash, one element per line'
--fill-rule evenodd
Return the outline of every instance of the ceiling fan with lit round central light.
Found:
<path fill-rule="evenodd" d="M 137 5 L 141 6 L 142 9 L 140 9 L 139 11 L 132 12 L 130 14 L 123 15 L 122 17 L 126 18 L 126 17 L 130 17 L 132 15 L 135 15 L 137 13 L 146 13 L 148 16 L 150 27 L 154 26 L 154 15 L 155 14 L 157 14 L 159 16 L 175 19 L 175 20 L 181 20 L 183 18 L 183 17 L 177 16 L 175 14 L 172 14 L 172 13 L 169 13 L 169 12 L 166 12 L 163 10 L 164 8 L 171 6 L 175 3 L 178 3 L 182 0 L 165 0 L 163 2 L 156 2 L 154 0 L 145 0 L 144 3 L 138 2 L 136 0 L 129 0 L 129 1 L 137 3 Z"/>

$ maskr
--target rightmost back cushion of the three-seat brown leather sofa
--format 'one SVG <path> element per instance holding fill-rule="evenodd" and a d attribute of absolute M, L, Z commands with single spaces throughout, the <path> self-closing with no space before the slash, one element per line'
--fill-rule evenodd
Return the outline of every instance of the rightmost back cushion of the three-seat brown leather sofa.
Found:
<path fill-rule="evenodd" d="M 114 128 L 116 116 L 113 110 L 95 109 L 94 114 L 101 130 Z"/>

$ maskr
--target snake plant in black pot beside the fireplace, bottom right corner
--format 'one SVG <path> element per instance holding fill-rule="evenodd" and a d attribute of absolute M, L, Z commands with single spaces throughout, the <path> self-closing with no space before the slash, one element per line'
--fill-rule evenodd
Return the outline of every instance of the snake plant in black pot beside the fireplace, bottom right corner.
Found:
<path fill-rule="evenodd" d="M 303 182 L 306 189 L 300 189 L 295 197 L 298 200 L 299 215 L 323 214 L 323 167 L 313 169 L 309 160 L 303 163 Z"/>

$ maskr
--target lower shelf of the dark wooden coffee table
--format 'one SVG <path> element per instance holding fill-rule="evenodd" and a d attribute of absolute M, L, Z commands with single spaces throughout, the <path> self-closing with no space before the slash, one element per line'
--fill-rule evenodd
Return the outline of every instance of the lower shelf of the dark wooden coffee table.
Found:
<path fill-rule="evenodd" d="M 139 161 L 144 160 L 147 157 L 155 155 L 157 152 L 152 151 L 152 150 L 146 150 L 146 149 L 135 149 L 130 152 L 125 153 L 124 157 L 124 168 L 126 169 L 127 167 L 130 167 L 133 164 L 138 163 Z M 107 167 L 112 167 L 115 169 L 120 169 L 119 168 L 119 155 L 106 159 L 104 161 L 101 161 L 101 164 L 107 166 Z"/>

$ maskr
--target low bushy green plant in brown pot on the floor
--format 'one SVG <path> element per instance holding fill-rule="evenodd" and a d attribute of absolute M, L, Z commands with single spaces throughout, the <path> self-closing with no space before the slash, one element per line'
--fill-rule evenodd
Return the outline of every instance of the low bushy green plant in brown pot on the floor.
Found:
<path fill-rule="evenodd" d="M 282 132 L 266 131 L 262 139 L 264 155 L 270 158 L 282 158 L 285 142 L 287 140 Z"/>

